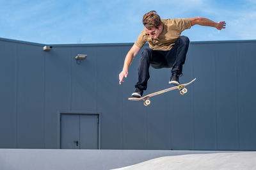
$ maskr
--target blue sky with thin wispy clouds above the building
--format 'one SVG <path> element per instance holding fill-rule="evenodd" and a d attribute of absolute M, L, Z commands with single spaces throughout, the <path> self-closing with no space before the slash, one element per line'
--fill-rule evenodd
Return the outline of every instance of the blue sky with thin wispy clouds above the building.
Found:
<path fill-rule="evenodd" d="M 226 29 L 193 26 L 191 42 L 256 40 L 255 0 L 0 0 L 0 37 L 45 44 L 133 43 L 144 13 L 162 19 L 207 17 Z"/>

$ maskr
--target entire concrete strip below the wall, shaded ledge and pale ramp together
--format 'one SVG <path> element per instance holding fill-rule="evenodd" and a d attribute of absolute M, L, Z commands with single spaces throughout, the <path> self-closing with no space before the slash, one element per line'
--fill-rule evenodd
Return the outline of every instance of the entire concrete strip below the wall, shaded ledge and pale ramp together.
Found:
<path fill-rule="evenodd" d="M 0 170 L 256 169 L 256 151 L 0 149 Z"/>

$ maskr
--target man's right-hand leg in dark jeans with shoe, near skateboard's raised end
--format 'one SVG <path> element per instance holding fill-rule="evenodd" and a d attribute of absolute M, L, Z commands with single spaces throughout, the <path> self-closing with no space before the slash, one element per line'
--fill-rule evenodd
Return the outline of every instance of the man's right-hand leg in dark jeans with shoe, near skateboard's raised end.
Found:
<path fill-rule="evenodd" d="M 173 45 L 175 61 L 172 66 L 172 77 L 169 83 L 173 85 L 179 85 L 179 76 L 182 75 L 182 65 L 184 65 L 186 60 L 186 54 L 189 47 L 189 38 L 187 36 L 180 36 Z"/>

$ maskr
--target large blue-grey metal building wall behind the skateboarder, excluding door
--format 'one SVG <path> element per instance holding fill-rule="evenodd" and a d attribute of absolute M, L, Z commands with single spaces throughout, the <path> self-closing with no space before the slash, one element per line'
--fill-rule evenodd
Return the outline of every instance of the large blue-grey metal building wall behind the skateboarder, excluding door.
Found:
<path fill-rule="evenodd" d="M 181 82 L 186 95 L 127 100 L 132 44 L 44 45 L 0 39 L 0 148 L 60 148 L 60 113 L 100 114 L 100 149 L 256 150 L 256 41 L 191 42 Z M 74 57 L 88 54 L 80 65 Z M 145 94 L 168 88 L 170 69 L 150 68 Z"/>

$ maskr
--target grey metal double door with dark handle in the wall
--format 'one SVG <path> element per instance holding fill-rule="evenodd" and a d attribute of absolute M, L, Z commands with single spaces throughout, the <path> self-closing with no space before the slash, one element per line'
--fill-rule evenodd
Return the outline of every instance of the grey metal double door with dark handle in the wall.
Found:
<path fill-rule="evenodd" d="M 99 149 L 99 115 L 61 114 L 61 149 Z"/>

